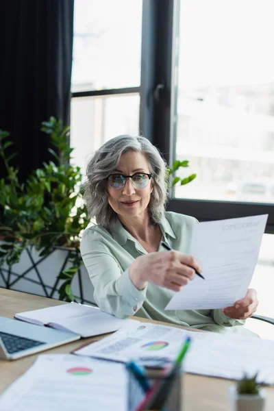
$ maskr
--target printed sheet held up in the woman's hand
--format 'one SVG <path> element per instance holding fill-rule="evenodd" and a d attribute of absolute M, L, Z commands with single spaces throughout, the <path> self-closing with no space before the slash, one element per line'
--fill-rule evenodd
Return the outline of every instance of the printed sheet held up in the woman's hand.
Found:
<path fill-rule="evenodd" d="M 233 306 L 245 297 L 258 261 L 267 214 L 193 227 L 190 255 L 203 269 L 176 292 L 165 310 L 203 310 Z"/>

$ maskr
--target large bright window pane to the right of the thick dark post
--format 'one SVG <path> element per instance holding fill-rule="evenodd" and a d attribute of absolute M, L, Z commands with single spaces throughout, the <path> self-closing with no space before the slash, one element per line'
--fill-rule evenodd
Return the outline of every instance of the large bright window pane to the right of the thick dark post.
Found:
<path fill-rule="evenodd" d="M 177 198 L 274 203 L 272 5 L 180 2 L 175 158 L 197 178 Z"/>

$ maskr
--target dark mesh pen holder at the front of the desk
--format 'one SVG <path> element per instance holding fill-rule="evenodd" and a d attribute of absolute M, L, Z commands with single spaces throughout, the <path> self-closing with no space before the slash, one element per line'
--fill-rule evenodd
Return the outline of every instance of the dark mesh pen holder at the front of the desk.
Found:
<path fill-rule="evenodd" d="M 145 401 L 146 393 L 136 377 L 128 371 L 129 395 L 128 411 L 136 411 Z M 162 376 L 162 369 L 147 369 L 151 387 L 155 387 L 153 401 L 141 410 L 183 411 L 183 373 L 178 370 L 174 375 Z M 154 385 L 155 384 L 155 385 Z"/>

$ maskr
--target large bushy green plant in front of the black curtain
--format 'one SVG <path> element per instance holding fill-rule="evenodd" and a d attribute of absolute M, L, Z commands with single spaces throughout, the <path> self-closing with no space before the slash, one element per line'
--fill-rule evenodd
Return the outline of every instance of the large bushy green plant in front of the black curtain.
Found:
<path fill-rule="evenodd" d="M 24 184 L 18 181 L 18 169 L 10 166 L 6 150 L 12 145 L 10 134 L 0 130 L 0 156 L 7 175 L 0 179 L 0 262 L 9 266 L 18 262 L 22 251 L 34 246 L 40 256 L 53 251 L 55 246 L 73 247 L 69 260 L 72 268 L 64 270 L 60 279 L 60 299 L 73 301 L 71 281 L 81 265 L 79 233 L 89 223 L 81 192 L 82 173 L 71 165 L 69 126 L 51 117 L 42 123 L 41 130 L 49 135 L 56 151 L 49 149 L 54 162 L 44 162 Z"/>

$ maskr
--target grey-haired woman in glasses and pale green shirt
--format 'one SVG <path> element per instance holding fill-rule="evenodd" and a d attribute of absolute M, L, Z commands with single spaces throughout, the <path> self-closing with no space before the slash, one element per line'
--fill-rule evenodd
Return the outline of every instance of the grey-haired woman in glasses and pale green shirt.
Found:
<path fill-rule="evenodd" d="M 191 216 L 165 212 L 166 166 L 147 138 L 118 136 L 95 152 L 84 185 L 86 206 L 97 225 L 84 232 L 81 253 L 99 308 L 211 331 L 234 327 L 256 311 L 255 290 L 224 310 L 169 310 L 174 292 L 202 267 L 188 255 Z M 161 241 L 176 251 L 166 251 Z"/>

